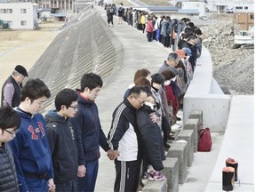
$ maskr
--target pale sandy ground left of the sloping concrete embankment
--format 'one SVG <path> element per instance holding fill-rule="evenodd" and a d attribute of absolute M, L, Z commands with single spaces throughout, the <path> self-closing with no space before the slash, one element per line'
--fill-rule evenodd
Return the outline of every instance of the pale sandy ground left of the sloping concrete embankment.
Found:
<path fill-rule="evenodd" d="M 38 30 L 0 30 L 0 85 L 20 64 L 29 69 L 43 54 L 63 23 L 43 23 Z"/>

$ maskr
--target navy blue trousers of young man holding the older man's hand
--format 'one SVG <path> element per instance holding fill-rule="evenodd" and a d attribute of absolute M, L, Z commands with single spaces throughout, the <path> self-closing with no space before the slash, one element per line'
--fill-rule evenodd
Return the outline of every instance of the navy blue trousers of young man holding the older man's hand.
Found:
<path fill-rule="evenodd" d="M 85 177 L 76 178 L 76 188 L 79 192 L 94 191 L 95 183 L 98 175 L 99 161 L 98 159 L 91 162 L 86 162 Z"/>

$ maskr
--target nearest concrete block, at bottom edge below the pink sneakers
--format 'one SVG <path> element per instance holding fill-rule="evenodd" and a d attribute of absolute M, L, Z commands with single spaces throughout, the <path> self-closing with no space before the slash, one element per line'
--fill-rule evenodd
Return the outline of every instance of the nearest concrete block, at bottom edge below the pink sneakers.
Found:
<path fill-rule="evenodd" d="M 166 192 L 167 180 L 148 180 L 142 192 Z"/>

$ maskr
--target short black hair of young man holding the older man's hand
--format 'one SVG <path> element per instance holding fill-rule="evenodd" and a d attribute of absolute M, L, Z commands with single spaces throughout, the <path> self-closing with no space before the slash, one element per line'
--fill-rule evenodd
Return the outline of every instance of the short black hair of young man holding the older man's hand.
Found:
<path fill-rule="evenodd" d="M 87 73 L 82 76 L 81 81 L 81 92 L 84 92 L 84 89 L 88 87 L 90 90 L 96 87 L 102 87 L 103 82 L 100 76 L 94 73 Z"/>

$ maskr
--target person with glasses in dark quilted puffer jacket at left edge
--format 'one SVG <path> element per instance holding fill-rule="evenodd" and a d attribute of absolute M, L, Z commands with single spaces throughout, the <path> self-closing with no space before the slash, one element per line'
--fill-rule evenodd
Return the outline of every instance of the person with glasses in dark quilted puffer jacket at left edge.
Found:
<path fill-rule="evenodd" d="M 8 143 L 19 131 L 20 116 L 11 107 L 0 108 L 0 191 L 19 191 L 19 184 Z"/>

